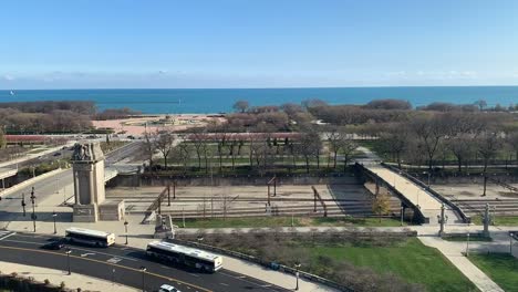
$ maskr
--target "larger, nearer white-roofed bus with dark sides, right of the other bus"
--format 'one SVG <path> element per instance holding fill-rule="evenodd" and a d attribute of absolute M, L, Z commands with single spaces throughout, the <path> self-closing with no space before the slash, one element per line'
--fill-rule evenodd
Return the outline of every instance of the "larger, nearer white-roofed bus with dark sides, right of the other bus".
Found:
<path fill-rule="evenodd" d="M 222 268 L 222 259 L 219 255 L 164 241 L 147 243 L 146 254 L 207 272 L 216 272 Z"/>

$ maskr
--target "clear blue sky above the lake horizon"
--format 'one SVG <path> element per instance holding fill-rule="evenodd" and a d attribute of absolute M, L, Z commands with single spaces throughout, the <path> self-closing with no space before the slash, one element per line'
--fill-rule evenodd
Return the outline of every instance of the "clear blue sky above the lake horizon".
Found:
<path fill-rule="evenodd" d="M 2 0 L 0 88 L 517 85 L 516 0 Z"/>

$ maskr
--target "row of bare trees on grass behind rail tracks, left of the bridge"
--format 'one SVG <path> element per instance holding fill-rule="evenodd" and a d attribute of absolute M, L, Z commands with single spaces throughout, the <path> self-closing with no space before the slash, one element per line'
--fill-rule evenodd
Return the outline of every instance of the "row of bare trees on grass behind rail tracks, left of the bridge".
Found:
<path fill-rule="evenodd" d="M 224 167 L 235 170 L 237 166 L 248 166 L 249 169 L 265 173 L 274 168 L 291 170 L 303 165 L 309 174 L 312 166 L 321 168 L 324 157 L 328 158 L 327 167 L 336 169 L 340 155 L 343 157 L 343 170 L 346 170 L 356 148 L 352 135 L 339 127 L 330 127 L 329 132 L 322 133 L 315 127 L 304 127 L 299 133 L 196 131 L 182 137 L 164 131 L 146 133 L 143 144 L 143 153 L 152 168 L 155 165 L 153 156 L 158 153 L 165 169 L 173 163 L 185 169 L 205 169 L 206 174 L 214 160 L 220 173 Z"/>

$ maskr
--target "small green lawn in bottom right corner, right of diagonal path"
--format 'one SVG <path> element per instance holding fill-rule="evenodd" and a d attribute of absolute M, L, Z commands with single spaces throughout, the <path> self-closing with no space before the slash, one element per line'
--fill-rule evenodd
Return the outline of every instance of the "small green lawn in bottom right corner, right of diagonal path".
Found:
<path fill-rule="evenodd" d="M 518 290 L 518 259 L 508 253 L 472 254 L 469 259 L 505 291 Z"/>

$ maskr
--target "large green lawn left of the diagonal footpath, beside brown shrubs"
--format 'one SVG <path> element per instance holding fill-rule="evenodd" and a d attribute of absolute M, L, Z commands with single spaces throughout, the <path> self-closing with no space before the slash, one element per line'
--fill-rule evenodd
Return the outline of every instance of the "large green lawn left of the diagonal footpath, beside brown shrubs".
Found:
<path fill-rule="evenodd" d="M 408 282 L 424 284 L 428 291 L 477 291 L 438 250 L 425 247 L 416 238 L 387 247 L 345 243 L 308 247 L 307 250 L 314 259 L 328 255 L 376 272 L 394 273 Z M 515 279 L 518 279 L 517 275 Z"/>

